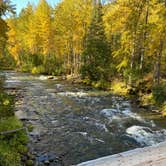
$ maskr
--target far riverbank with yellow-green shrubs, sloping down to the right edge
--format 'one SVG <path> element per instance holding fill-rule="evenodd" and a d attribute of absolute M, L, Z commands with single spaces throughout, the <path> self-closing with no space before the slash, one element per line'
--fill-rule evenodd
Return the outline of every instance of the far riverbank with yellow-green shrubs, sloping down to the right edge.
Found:
<path fill-rule="evenodd" d="M 135 102 L 140 108 L 147 111 L 157 112 L 166 116 L 166 80 L 162 79 L 157 85 L 152 78 L 144 78 L 132 85 L 127 84 L 121 78 L 113 79 L 111 82 L 91 82 L 80 78 L 70 78 L 76 83 L 83 83 L 94 88 L 103 89 L 111 94 L 123 96 Z"/>

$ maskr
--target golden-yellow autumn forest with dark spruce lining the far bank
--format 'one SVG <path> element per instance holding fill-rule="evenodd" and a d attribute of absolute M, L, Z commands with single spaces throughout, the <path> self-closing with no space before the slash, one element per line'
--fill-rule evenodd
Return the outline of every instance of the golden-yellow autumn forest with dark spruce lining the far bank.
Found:
<path fill-rule="evenodd" d="M 2 69 L 148 91 L 145 100 L 165 101 L 165 0 L 64 0 L 55 7 L 40 0 L 18 15 L 10 1 L 1 1 L 0 9 Z M 152 97 L 153 89 L 162 96 Z"/>

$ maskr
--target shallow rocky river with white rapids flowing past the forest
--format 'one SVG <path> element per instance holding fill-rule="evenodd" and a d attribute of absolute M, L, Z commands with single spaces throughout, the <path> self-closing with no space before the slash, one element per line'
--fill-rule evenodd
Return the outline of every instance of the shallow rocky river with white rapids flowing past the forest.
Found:
<path fill-rule="evenodd" d="M 11 71 L 4 88 L 29 132 L 36 165 L 69 166 L 166 140 L 166 122 L 123 97 Z"/>

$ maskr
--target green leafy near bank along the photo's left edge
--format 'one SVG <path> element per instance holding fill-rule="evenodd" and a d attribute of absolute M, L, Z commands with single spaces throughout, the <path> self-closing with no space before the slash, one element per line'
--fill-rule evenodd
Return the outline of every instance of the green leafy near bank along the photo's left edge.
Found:
<path fill-rule="evenodd" d="M 14 115 L 14 96 L 5 93 L 0 77 L 0 165 L 21 166 L 28 149 L 23 124 Z M 20 129 L 20 130 L 19 130 Z"/>

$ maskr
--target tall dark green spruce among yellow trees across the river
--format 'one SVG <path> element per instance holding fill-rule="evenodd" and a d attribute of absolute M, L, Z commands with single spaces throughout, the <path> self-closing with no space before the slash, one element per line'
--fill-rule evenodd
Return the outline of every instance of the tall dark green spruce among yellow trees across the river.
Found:
<path fill-rule="evenodd" d="M 109 79 L 110 50 L 102 19 L 102 4 L 94 4 L 93 16 L 86 36 L 86 45 L 82 54 L 82 77 L 91 81 Z"/>

